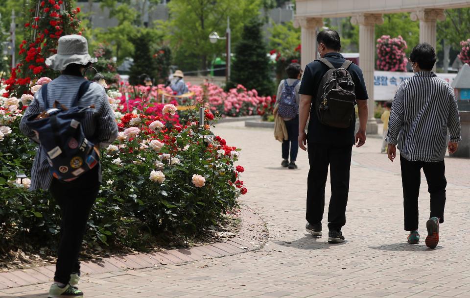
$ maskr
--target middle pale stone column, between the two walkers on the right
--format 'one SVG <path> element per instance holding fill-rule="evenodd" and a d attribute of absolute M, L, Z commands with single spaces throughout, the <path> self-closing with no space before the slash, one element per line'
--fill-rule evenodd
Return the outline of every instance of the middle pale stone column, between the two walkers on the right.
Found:
<path fill-rule="evenodd" d="M 376 57 L 375 25 L 382 25 L 381 14 L 360 14 L 352 16 L 351 23 L 359 25 L 359 67 L 362 69 L 366 83 L 367 107 L 369 110 L 367 120 L 367 134 L 377 134 L 377 121 L 374 118 L 374 70 Z"/>

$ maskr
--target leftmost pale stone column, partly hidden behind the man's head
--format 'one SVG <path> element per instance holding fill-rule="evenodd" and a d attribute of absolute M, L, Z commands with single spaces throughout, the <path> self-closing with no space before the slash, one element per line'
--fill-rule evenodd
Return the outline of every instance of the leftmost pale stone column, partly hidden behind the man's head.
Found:
<path fill-rule="evenodd" d="M 316 59 L 317 53 L 317 30 L 323 27 L 322 18 L 296 17 L 294 26 L 301 27 L 302 52 L 300 56 L 302 69 Z"/>

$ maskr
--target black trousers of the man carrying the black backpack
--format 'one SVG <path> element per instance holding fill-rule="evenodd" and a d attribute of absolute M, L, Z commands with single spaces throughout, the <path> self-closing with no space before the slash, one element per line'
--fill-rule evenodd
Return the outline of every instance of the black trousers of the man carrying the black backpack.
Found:
<path fill-rule="evenodd" d="M 328 166 L 331 181 L 328 227 L 340 230 L 346 224 L 352 145 L 335 146 L 308 143 L 310 171 L 307 180 L 306 220 L 310 224 L 322 221 L 325 210 L 325 186 Z"/>

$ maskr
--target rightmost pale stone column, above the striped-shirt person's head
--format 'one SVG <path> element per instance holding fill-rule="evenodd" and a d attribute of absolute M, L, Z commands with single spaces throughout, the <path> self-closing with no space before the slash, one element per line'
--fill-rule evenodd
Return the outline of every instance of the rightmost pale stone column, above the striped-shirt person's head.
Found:
<path fill-rule="evenodd" d="M 413 21 L 420 20 L 420 43 L 428 43 L 436 50 L 436 22 L 446 19 L 444 9 L 420 9 L 412 12 L 410 17 Z"/>

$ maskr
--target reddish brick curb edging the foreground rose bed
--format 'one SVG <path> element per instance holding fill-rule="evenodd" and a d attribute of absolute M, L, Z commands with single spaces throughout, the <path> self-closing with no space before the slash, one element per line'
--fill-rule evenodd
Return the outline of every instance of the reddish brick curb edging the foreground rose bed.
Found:
<path fill-rule="evenodd" d="M 243 205 L 239 216 L 240 230 L 234 238 L 220 243 L 193 248 L 179 248 L 153 253 L 139 253 L 103 258 L 95 262 L 81 262 L 82 276 L 133 269 L 183 264 L 252 251 L 262 248 L 267 242 L 268 232 L 261 217 Z M 0 290 L 51 282 L 55 265 L 0 273 Z"/>

